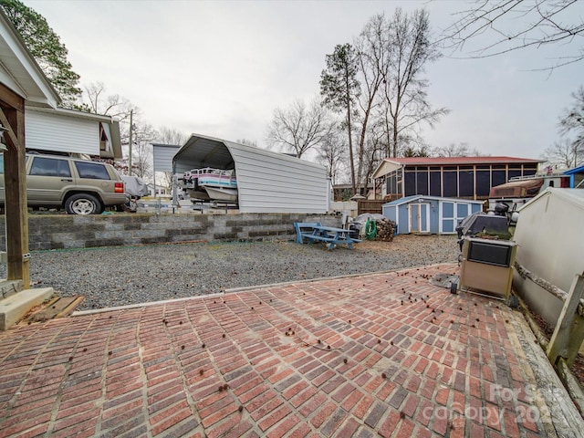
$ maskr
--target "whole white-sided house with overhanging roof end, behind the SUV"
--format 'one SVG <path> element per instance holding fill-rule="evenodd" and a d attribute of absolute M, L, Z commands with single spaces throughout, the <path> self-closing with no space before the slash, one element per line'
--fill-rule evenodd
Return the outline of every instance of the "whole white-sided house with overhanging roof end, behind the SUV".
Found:
<path fill-rule="evenodd" d="M 26 105 L 26 149 L 121 159 L 120 123 L 110 116 Z"/>

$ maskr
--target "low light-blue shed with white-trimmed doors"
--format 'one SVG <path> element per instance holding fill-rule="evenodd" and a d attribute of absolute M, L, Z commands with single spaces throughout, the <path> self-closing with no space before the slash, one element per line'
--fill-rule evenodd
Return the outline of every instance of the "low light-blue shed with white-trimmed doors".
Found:
<path fill-rule="evenodd" d="M 413 195 L 383 204 L 383 215 L 395 222 L 396 233 L 453 235 L 469 214 L 483 211 L 483 201 Z"/>

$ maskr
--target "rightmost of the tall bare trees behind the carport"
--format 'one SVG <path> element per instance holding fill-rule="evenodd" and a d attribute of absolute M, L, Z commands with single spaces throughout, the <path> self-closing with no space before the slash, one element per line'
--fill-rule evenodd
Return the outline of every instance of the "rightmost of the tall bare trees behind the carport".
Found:
<path fill-rule="evenodd" d="M 388 147 L 395 157 L 401 139 L 418 141 L 422 123 L 431 127 L 444 115 L 446 108 L 433 109 L 426 89 L 430 86 L 422 78 L 429 62 L 441 57 L 430 40 L 428 13 L 424 10 L 405 15 L 397 8 L 388 25 L 388 69 L 384 72 L 383 94 L 388 131 Z"/>

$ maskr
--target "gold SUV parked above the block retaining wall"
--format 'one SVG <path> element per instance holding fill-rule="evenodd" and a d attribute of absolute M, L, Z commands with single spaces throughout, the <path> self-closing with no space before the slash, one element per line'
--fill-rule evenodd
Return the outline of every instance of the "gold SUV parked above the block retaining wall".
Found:
<path fill-rule="evenodd" d="M 0 154 L 0 204 L 5 203 L 4 159 Z M 100 214 L 127 201 L 125 184 L 106 162 L 58 155 L 26 155 L 28 206 L 64 208 L 68 214 Z"/>

